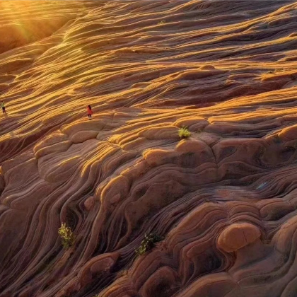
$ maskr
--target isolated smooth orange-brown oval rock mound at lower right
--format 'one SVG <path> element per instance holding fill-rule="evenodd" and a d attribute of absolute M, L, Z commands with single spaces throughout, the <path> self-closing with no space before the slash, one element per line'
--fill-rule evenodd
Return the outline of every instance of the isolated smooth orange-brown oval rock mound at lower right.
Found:
<path fill-rule="evenodd" d="M 260 236 L 261 232 L 257 226 L 250 223 L 234 223 L 219 235 L 217 246 L 226 252 L 235 252 L 255 242 Z"/>

